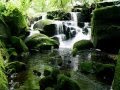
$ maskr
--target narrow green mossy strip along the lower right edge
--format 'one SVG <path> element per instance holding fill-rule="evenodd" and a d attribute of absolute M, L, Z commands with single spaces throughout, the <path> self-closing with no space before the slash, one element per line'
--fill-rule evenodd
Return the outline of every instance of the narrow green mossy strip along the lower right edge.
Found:
<path fill-rule="evenodd" d="M 118 55 L 112 87 L 113 90 L 120 90 L 120 55 Z"/>

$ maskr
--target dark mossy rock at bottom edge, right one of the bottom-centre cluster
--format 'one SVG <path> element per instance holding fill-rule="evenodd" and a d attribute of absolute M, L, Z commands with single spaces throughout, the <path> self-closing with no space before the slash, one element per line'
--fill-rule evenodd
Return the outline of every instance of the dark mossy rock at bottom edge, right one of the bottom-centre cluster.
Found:
<path fill-rule="evenodd" d="M 65 75 L 59 75 L 55 90 L 80 90 L 79 84 Z"/>

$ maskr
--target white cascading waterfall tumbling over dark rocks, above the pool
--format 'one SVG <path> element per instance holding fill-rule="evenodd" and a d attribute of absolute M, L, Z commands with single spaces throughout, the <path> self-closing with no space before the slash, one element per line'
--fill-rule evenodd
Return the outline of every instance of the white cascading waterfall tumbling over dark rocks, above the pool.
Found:
<path fill-rule="evenodd" d="M 56 26 L 56 36 L 59 38 L 60 46 L 59 48 L 71 48 L 74 43 L 87 39 L 90 40 L 91 30 L 89 28 L 89 24 L 85 23 L 85 28 L 88 29 L 88 34 L 85 35 L 82 33 L 82 28 L 80 28 L 78 24 L 77 14 L 78 12 L 71 12 L 71 20 L 70 21 L 55 21 Z"/>

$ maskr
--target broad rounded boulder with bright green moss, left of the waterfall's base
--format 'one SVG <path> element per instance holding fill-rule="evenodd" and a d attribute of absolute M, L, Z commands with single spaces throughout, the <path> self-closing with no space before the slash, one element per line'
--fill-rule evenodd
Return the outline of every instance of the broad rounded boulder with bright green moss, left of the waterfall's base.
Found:
<path fill-rule="evenodd" d="M 29 49 L 50 50 L 51 47 L 59 47 L 57 41 L 47 37 L 44 34 L 34 34 L 28 37 L 25 42 Z"/>

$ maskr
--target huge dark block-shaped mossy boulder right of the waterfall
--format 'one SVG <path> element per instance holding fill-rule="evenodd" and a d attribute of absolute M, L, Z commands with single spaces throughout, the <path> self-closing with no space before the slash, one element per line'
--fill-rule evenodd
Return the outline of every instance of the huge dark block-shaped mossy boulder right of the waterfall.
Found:
<path fill-rule="evenodd" d="M 96 48 L 109 53 L 118 53 L 120 44 L 120 7 L 96 9 L 92 18 L 92 41 Z"/>

